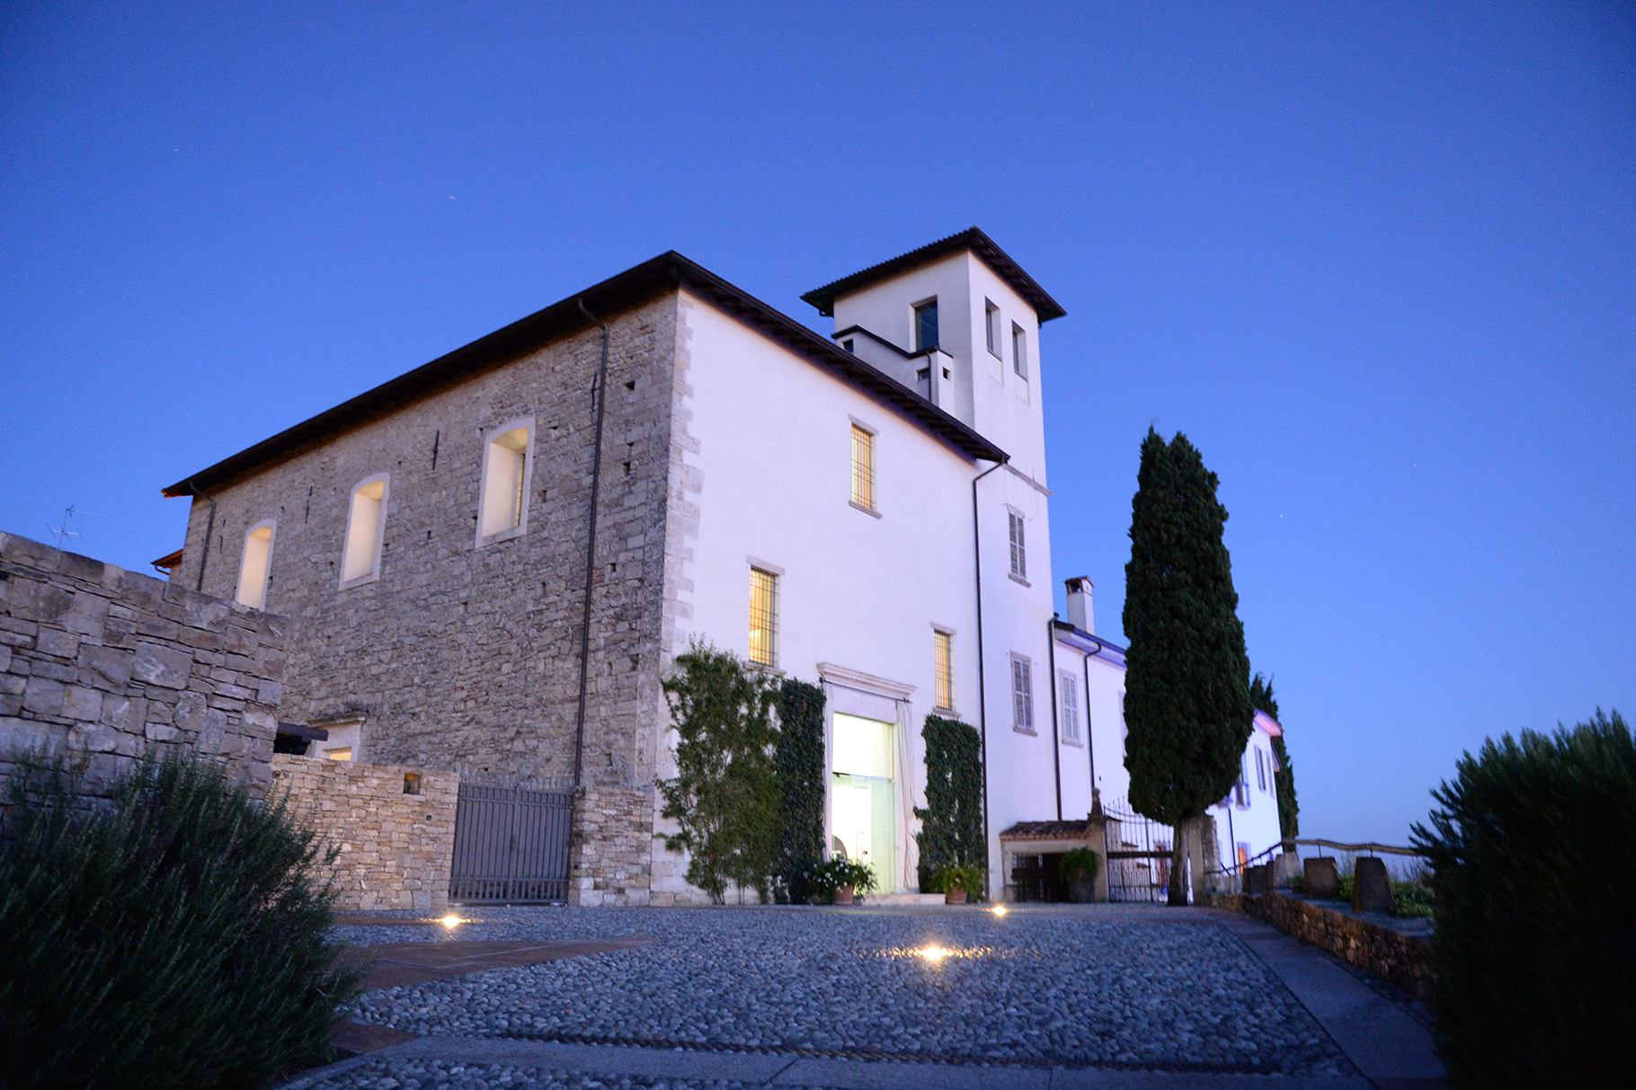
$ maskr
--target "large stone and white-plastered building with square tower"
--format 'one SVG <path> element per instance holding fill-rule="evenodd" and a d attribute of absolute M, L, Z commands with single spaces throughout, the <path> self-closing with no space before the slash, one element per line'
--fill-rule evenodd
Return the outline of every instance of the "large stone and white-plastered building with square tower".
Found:
<path fill-rule="evenodd" d="M 699 899 L 651 848 L 692 640 L 825 686 L 831 843 L 887 890 L 919 723 L 980 727 L 998 867 L 1119 738 L 1116 692 L 1052 673 L 1063 311 L 975 227 L 805 298 L 833 337 L 679 254 L 630 268 L 167 488 L 172 579 L 290 619 L 280 718 L 330 756 L 581 784 L 609 900 Z"/>

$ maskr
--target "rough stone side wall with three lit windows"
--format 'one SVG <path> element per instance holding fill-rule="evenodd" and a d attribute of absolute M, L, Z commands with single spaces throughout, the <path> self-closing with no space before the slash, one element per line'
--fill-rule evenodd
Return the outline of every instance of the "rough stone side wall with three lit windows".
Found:
<path fill-rule="evenodd" d="M 677 293 L 609 326 L 582 782 L 654 781 L 664 700 Z M 236 592 L 245 532 L 276 519 L 267 607 L 290 617 L 280 717 L 363 717 L 365 761 L 571 777 L 584 604 L 591 327 L 195 499 L 173 576 Z M 525 532 L 478 547 L 484 437 L 533 417 Z M 260 435 L 232 437 L 249 445 Z M 389 473 L 380 578 L 339 589 L 353 486 Z M 204 534 L 209 534 L 206 556 Z"/>

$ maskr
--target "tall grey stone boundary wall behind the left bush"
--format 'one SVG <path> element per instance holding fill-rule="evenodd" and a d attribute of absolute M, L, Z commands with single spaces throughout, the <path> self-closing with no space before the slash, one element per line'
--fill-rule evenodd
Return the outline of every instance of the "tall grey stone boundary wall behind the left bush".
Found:
<path fill-rule="evenodd" d="M 0 534 L 0 774 L 83 758 L 106 797 L 146 750 L 221 756 L 263 790 L 286 620 Z"/>

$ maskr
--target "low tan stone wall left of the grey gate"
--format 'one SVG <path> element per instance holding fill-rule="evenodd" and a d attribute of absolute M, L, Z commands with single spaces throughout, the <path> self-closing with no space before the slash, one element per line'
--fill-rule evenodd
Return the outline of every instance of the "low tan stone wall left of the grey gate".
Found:
<path fill-rule="evenodd" d="M 276 753 L 272 774 L 273 794 L 288 790 L 298 820 L 340 848 L 329 871 L 340 892 L 337 908 L 442 912 L 448 905 L 456 772 Z M 406 774 L 419 777 L 420 794 L 404 794 Z"/>

